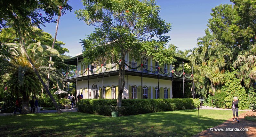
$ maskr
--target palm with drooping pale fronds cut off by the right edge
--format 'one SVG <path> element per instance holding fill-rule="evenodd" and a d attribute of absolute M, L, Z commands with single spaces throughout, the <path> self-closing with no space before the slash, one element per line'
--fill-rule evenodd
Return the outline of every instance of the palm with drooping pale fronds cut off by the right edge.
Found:
<path fill-rule="evenodd" d="M 244 51 L 242 55 L 238 55 L 233 65 L 235 68 L 239 67 L 238 77 L 241 81 L 244 81 L 248 88 L 251 79 L 256 81 L 256 45 L 249 46 L 248 50 Z"/>

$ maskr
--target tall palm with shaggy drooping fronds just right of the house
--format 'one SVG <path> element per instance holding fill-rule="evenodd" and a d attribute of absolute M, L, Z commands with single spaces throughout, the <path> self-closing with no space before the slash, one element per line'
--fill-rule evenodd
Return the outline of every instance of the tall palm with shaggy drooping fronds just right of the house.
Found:
<path fill-rule="evenodd" d="M 220 84 L 224 80 L 226 61 L 230 58 L 230 49 L 216 40 L 209 29 L 205 30 L 205 36 L 197 38 L 198 47 L 193 51 L 193 62 L 200 65 L 198 68 L 201 75 L 211 82 L 209 92 L 214 93 L 219 90 Z"/>

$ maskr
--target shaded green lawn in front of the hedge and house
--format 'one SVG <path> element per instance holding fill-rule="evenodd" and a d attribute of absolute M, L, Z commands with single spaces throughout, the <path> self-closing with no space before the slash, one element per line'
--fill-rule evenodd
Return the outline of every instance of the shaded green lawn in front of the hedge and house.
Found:
<path fill-rule="evenodd" d="M 242 113 L 242 112 L 239 112 Z M 200 131 L 232 118 L 230 110 L 200 110 Z M 198 133 L 197 109 L 117 118 L 86 113 L 1 116 L 0 136 L 177 136 Z"/>

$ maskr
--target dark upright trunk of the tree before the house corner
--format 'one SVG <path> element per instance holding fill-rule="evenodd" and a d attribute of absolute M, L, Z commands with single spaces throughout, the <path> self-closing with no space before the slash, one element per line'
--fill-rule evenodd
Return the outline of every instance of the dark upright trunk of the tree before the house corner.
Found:
<path fill-rule="evenodd" d="M 121 65 L 119 65 L 119 71 L 118 71 L 118 96 L 117 96 L 117 102 L 116 106 L 121 107 L 122 106 L 122 97 L 123 97 L 123 92 L 124 92 L 124 86 L 125 86 L 125 80 L 124 80 L 124 60 L 125 54 L 122 53 L 122 61 Z"/>

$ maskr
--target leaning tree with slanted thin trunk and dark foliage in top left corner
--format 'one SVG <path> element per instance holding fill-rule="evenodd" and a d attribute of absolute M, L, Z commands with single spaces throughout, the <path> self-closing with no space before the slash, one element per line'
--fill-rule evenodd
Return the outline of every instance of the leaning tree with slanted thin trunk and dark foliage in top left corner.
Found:
<path fill-rule="evenodd" d="M 29 57 L 26 48 L 25 48 L 25 35 L 28 32 L 31 32 L 31 26 L 36 25 L 44 25 L 44 22 L 56 22 L 56 20 L 52 20 L 54 15 L 58 15 L 59 13 L 59 5 L 60 3 L 64 3 L 63 0 L 54 0 L 54 1 L 44 1 L 44 0 L 35 0 L 35 1 L 0 1 L 1 9 L 0 9 L 0 27 L 9 27 L 12 26 L 15 29 L 16 34 L 19 36 L 19 41 L 23 52 L 26 55 L 26 58 L 29 61 L 29 64 L 33 68 L 36 73 L 36 76 L 46 89 L 46 92 L 52 99 L 53 104 L 55 105 L 57 112 L 61 113 L 58 104 L 55 99 L 52 97 L 49 89 L 45 85 L 43 79 L 40 74 L 36 70 L 35 65 L 31 58 Z M 66 8 L 70 9 L 71 6 L 66 6 Z M 38 11 L 45 12 L 46 16 L 42 16 Z"/>

